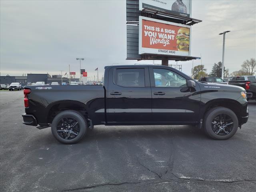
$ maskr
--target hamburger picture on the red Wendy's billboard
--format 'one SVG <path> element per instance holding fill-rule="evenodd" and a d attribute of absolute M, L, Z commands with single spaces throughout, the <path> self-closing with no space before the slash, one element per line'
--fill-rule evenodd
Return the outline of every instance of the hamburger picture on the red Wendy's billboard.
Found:
<path fill-rule="evenodd" d="M 189 51 L 189 28 L 182 27 L 178 30 L 177 48 L 179 51 Z"/>

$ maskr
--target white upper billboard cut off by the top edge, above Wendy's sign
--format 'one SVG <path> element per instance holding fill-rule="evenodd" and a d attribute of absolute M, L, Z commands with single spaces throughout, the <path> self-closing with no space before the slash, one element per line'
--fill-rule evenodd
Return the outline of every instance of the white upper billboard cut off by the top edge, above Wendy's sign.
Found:
<path fill-rule="evenodd" d="M 159 13 L 191 17 L 191 0 L 140 0 L 140 11 L 154 10 Z"/>

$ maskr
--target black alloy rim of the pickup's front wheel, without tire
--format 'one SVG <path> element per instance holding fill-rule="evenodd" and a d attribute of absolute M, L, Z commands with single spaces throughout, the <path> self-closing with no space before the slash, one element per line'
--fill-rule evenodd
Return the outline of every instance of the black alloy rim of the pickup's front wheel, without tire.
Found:
<path fill-rule="evenodd" d="M 217 135 L 227 135 L 233 129 L 234 121 L 227 114 L 219 114 L 212 120 L 212 130 Z"/>

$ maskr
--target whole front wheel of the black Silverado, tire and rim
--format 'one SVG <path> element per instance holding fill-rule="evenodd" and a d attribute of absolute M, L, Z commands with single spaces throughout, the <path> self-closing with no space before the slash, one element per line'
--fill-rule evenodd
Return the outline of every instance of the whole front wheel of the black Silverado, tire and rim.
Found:
<path fill-rule="evenodd" d="M 231 119 L 229 121 L 221 120 L 221 116 L 224 116 L 223 119 Z M 223 123 L 224 122 L 224 123 Z M 222 123 L 223 128 L 222 130 Z M 217 126 L 218 124 L 218 126 Z M 230 124 L 229 126 L 225 126 Z M 220 127 L 219 127 L 220 126 Z M 208 110 L 204 116 L 203 127 L 205 133 L 215 140 L 226 140 L 234 136 L 238 129 L 238 118 L 236 114 L 225 107 L 216 107 Z M 217 130 L 218 129 L 218 130 Z M 215 131 L 214 131 L 215 130 Z M 219 132 L 219 133 L 218 133 Z M 228 132 L 228 134 L 226 134 Z M 218 134 L 217 134 L 218 133 Z"/>

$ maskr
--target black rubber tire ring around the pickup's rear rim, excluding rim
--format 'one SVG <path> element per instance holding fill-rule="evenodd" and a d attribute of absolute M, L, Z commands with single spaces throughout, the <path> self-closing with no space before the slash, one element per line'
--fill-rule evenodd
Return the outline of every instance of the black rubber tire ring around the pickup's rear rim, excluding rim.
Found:
<path fill-rule="evenodd" d="M 80 132 L 79 132 L 78 136 L 76 136 L 74 139 L 71 139 L 71 140 L 64 139 L 57 132 L 58 123 L 60 122 L 60 120 L 62 118 L 65 118 L 65 117 L 71 117 L 78 121 L 78 126 L 80 128 Z M 66 111 L 60 112 L 58 115 L 56 115 L 56 117 L 52 121 L 51 130 L 52 130 L 53 136 L 59 142 L 62 142 L 64 144 L 75 144 L 75 143 L 79 142 L 86 134 L 87 124 L 86 124 L 86 121 L 85 121 L 84 117 L 82 116 L 82 114 L 80 114 L 79 112 L 76 112 L 76 111 L 66 110 Z"/>

